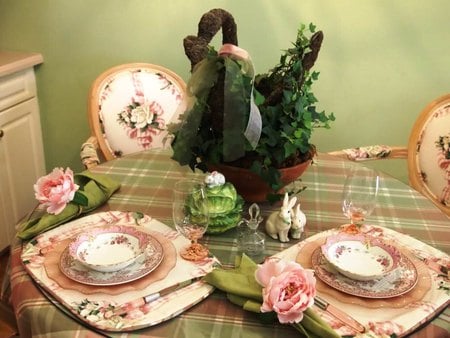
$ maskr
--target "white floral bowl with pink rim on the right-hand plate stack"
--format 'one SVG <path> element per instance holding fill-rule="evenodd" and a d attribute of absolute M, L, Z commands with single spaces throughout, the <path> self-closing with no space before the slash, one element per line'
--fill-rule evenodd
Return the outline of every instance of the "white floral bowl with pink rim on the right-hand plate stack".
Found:
<path fill-rule="evenodd" d="M 321 249 L 338 272 L 359 281 L 383 278 L 398 267 L 401 258 L 393 245 L 362 234 L 330 236 Z"/>

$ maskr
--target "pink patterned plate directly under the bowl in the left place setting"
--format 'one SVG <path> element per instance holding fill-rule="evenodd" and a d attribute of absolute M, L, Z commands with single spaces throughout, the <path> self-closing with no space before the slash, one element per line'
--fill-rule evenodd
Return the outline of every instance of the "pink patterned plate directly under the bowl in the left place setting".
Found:
<path fill-rule="evenodd" d="M 78 283 L 97 286 L 124 284 L 142 278 L 159 266 L 164 252 L 161 243 L 152 235 L 140 231 L 139 237 L 145 237 L 143 254 L 137 255 L 131 264 L 120 270 L 103 272 L 91 269 L 70 253 L 69 245 L 61 255 L 61 272 Z"/>

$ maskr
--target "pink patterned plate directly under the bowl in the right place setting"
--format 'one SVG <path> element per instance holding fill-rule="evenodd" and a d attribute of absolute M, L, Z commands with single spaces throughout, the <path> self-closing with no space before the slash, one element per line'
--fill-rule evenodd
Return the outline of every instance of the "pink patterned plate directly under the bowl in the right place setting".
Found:
<path fill-rule="evenodd" d="M 418 281 L 414 263 L 400 252 L 398 268 L 380 279 L 359 281 L 346 277 L 334 269 L 317 248 L 311 257 L 315 275 L 332 288 L 341 292 L 364 298 L 392 298 L 414 288 Z"/>

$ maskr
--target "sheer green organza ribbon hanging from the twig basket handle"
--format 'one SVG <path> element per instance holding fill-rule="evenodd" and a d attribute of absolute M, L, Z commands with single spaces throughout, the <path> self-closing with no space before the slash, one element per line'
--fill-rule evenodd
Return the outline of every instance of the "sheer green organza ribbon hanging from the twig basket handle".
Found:
<path fill-rule="evenodd" d="M 253 148 L 258 143 L 261 117 L 253 102 L 254 70 L 251 60 L 210 55 L 195 66 L 187 85 L 188 108 L 173 145 L 173 158 L 180 164 L 189 164 L 190 149 L 195 143 L 203 113 L 209 108 L 209 93 L 223 68 L 223 160 L 229 162 L 244 156 L 246 139 Z"/>

